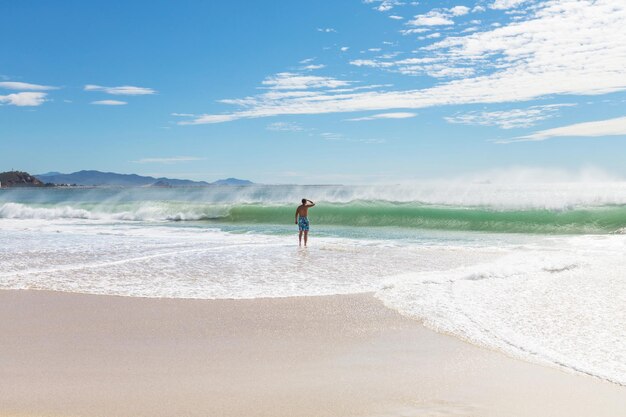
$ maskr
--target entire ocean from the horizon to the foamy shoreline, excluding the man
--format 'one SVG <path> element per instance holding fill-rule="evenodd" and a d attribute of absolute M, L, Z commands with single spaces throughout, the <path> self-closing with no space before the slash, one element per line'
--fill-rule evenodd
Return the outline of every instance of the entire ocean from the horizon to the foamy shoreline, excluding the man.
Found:
<path fill-rule="evenodd" d="M 626 385 L 625 231 L 624 183 L 1 189 L 0 288 L 371 292 L 434 330 Z"/>

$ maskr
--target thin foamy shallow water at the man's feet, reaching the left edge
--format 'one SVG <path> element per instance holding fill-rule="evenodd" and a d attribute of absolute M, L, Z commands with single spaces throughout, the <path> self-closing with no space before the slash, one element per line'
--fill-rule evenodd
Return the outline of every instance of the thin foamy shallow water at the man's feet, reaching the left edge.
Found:
<path fill-rule="evenodd" d="M 183 298 L 354 293 L 374 291 L 392 274 L 499 254 L 338 238 L 298 250 L 293 237 L 214 229 L 35 220 L 24 230 L 23 220 L 3 222 L 2 288 Z"/>

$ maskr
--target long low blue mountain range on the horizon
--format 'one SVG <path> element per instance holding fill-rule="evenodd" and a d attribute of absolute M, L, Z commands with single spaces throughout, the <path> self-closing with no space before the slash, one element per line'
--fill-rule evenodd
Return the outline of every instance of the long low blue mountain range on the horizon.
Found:
<path fill-rule="evenodd" d="M 206 181 L 179 180 L 172 178 L 154 178 L 137 174 L 117 174 L 115 172 L 101 171 L 78 171 L 71 174 L 61 174 L 58 172 L 48 172 L 36 175 L 44 182 L 54 184 L 75 184 L 85 186 L 118 186 L 118 187 L 203 187 L 211 184 L 218 185 L 251 185 L 251 181 L 228 178 L 214 183 Z"/>

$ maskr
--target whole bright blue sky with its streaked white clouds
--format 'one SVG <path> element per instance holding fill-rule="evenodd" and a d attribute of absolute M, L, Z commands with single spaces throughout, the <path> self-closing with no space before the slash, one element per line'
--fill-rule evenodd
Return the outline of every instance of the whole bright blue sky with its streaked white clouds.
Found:
<path fill-rule="evenodd" d="M 622 0 L 4 1 L 0 170 L 626 177 Z"/>

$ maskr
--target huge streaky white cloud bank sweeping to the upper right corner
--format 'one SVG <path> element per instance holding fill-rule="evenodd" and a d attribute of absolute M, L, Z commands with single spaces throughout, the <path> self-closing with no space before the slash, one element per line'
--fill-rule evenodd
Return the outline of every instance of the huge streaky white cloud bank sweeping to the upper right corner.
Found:
<path fill-rule="evenodd" d="M 232 104 L 243 108 L 226 114 L 201 115 L 190 123 L 289 114 L 510 103 L 554 95 L 626 91 L 626 42 L 623 39 L 626 39 L 626 4 L 612 0 L 549 0 L 532 9 L 521 21 L 448 37 L 417 51 L 416 59 L 430 61 L 352 62 L 353 65 L 441 77 L 442 81 L 432 87 L 338 93 L 324 88 L 342 83 L 353 85 L 355 81 L 329 78 L 295 82 L 289 76 L 284 78 L 290 81 L 283 82 L 274 76 L 270 78 L 274 81 L 269 87 L 304 87 L 307 95 L 271 98 L 259 94 L 232 100 Z M 268 86 L 267 82 L 265 85 Z"/>

